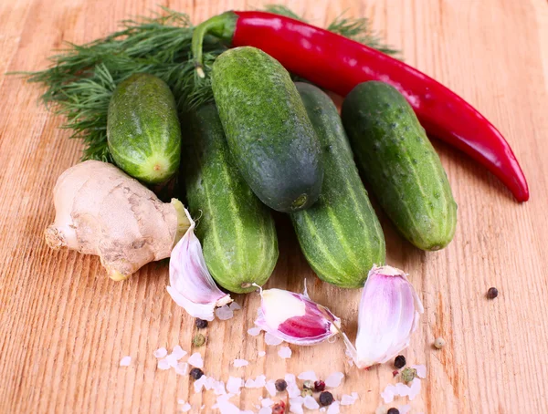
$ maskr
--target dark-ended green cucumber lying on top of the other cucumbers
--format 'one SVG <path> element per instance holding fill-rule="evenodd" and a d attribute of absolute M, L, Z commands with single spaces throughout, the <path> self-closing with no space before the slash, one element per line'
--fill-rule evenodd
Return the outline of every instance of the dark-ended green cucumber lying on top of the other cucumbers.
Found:
<path fill-rule="evenodd" d="M 216 58 L 212 88 L 228 147 L 258 198 L 279 212 L 320 195 L 320 144 L 290 74 L 255 47 Z"/>

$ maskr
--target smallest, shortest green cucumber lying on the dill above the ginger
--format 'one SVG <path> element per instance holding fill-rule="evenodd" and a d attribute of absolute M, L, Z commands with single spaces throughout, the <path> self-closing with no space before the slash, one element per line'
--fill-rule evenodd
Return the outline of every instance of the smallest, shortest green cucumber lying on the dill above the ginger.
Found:
<path fill-rule="evenodd" d="M 167 84 L 145 73 L 121 82 L 109 105 L 107 136 L 121 170 L 149 184 L 169 180 L 181 160 L 181 126 Z"/>

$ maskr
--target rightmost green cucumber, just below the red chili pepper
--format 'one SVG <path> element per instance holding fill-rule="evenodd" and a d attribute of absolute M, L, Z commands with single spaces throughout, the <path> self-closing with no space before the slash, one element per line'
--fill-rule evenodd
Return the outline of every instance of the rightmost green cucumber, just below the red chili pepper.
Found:
<path fill-rule="evenodd" d="M 448 245 L 457 203 L 406 98 L 383 82 L 364 82 L 344 99 L 342 123 L 359 167 L 400 233 L 419 249 Z"/>

